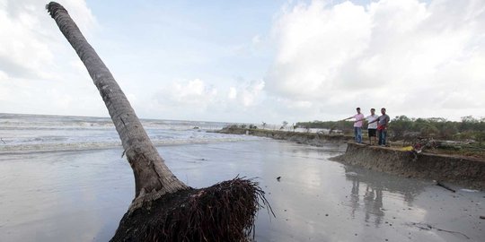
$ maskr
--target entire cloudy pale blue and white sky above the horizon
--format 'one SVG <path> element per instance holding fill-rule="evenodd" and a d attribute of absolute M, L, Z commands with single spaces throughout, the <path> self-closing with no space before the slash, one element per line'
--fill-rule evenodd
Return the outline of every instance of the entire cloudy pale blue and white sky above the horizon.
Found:
<path fill-rule="evenodd" d="M 138 117 L 485 117 L 485 1 L 59 0 Z M 108 117 L 44 9 L 0 0 L 0 113 Z"/>

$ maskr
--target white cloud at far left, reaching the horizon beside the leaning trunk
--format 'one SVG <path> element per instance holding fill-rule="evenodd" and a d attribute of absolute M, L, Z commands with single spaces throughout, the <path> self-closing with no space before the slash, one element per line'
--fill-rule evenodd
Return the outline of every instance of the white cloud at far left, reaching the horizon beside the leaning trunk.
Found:
<path fill-rule="evenodd" d="M 0 109 L 12 113 L 106 116 L 75 52 L 37 0 L 0 2 Z M 59 1 L 89 36 L 97 26 L 82 0 Z"/>

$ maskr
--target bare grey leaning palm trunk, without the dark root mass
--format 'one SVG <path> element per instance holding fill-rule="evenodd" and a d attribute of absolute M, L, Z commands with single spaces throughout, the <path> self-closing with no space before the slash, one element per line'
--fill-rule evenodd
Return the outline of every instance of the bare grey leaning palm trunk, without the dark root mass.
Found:
<path fill-rule="evenodd" d="M 54 2 L 46 5 L 46 8 L 86 66 L 116 126 L 135 175 L 136 195 L 130 210 L 163 194 L 188 189 L 165 165 L 110 70 L 84 39 L 66 9 Z"/>

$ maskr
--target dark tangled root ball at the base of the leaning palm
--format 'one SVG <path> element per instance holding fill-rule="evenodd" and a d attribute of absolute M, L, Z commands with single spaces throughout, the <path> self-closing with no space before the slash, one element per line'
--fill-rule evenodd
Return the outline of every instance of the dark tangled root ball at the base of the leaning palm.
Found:
<path fill-rule="evenodd" d="M 264 206 L 272 212 L 260 186 L 236 177 L 164 194 L 150 207 L 127 212 L 111 241 L 248 241 Z"/>

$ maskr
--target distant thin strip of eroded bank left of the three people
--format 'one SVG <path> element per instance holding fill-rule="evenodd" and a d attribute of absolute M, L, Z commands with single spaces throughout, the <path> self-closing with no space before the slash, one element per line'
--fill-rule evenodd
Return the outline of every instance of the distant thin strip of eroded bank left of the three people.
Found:
<path fill-rule="evenodd" d="M 260 137 L 269 137 L 276 140 L 286 140 L 289 142 L 309 144 L 313 146 L 323 146 L 328 143 L 345 143 L 352 140 L 352 136 L 343 134 L 315 134 L 315 133 L 300 133 L 287 132 L 278 130 L 266 129 L 243 129 L 243 128 L 224 128 L 217 131 L 222 134 L 250 134 Z"/>

